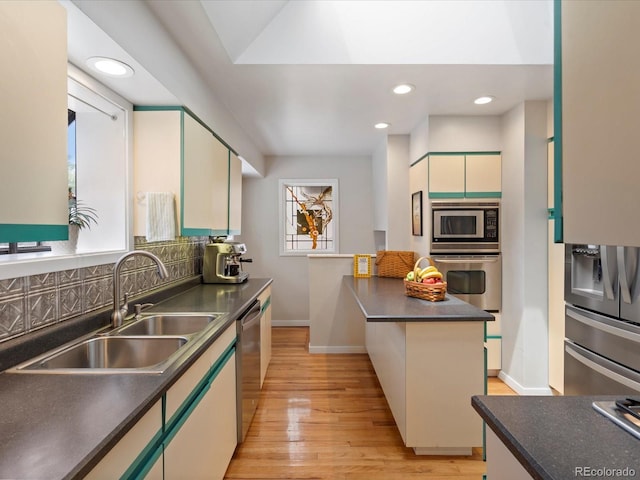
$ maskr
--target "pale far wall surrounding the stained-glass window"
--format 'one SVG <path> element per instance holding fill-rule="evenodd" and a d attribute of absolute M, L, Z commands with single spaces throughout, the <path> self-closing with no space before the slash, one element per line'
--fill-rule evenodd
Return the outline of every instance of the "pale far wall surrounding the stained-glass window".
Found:
<path fill-rule="evenodd" d="M 279 255 L 278 180 L 337 178 L 339 253 L 375 253 L 371 164 L 371 157 L 267 157 L 264 178 L 243 178 L 242 235 L 236 240 L 246 243 L 246 257 L 253 258 L 243 269 L 254 278 L 273 278 L 274 324 L 309 322 L 309 260 Z"/>

